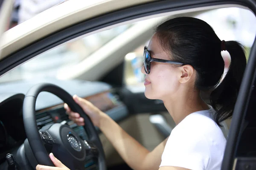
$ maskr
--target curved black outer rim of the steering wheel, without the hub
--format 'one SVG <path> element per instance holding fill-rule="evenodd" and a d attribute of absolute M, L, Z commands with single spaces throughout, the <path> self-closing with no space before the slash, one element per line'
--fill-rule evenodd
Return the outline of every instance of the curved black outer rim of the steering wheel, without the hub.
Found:
<path fill-rule="evenodd" d="M 35 118 L 35 103 L 38 97 L 38 94 L 41 92 L 49 92 L 58 96 L 61 100 L 63 100 L 72 111 L 77 112 L 84 118 L 84 129 L 88 133 L 89 141 L 93 141 L 96 145 L 99 156 L 98 156 L 98 168 L 99 170 L 106 170 L 106 161 L 105 161 L 105 153 L 102 147 L 102 143 L 99 139 L 98 133 L 96 128 L 94 127 L 93 123 L 91 122 L 90 118 L 84 113 L 83 109 L 76 104 L 73 100 L 73 97 L 67 93 L 64 89 L 50 84 L 50 83 L 41 83 L 38 85 L 32 86 L 29 91 L 26 93 L 23 102 L 23 122 L 24 127 L 27 135 L 27 139 L 29 145 L 31 147 L 32 152 L 34 153 L 35 159 L 38 161 L 39 164 L 53 166 L 51 159 L 47 153 L 46 148 L 44 147 L 41 135 L 38 131 L 38 126 L 36 123 Z"/>

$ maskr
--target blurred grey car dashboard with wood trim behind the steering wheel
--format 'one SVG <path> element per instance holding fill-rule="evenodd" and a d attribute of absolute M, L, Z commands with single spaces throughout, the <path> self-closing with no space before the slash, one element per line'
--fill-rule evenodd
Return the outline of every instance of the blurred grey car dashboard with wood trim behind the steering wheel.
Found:
<path fill-rule="evenodd" d="M 116 122 L 128 116 L 128 109 L 120 100 L 119 95 L 110 85 L 103 82 L 48 79 L 0 84 L 0 164 L 5 162 L 7 153 L 20 147 L 26 139 L 22 117 L 23 99 L 29 88 L 40 82 L 58 85 L 71 95 L 77 94 L 87 99 Z M 35 105 L 38 129 L 44 125 L 62 123 L 69 125 L 81 139 L 86 140 L 87 132 L 83 127 L 68 119 L 63 106 L 63 101 L 53 94 L 40 93 Z M 100 133 L 98 128 L 97 130 Z M 90 165 L 93 165 L 93 162 L 85 165 L 85 167 Z"/>

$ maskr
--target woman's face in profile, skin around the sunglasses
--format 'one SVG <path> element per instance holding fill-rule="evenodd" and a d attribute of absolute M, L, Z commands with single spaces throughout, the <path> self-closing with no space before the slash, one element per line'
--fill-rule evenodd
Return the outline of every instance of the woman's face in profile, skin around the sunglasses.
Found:
<path fill-rule="evenodd" d="M 151 57 L 170 60 L 167 54 L 160 46 L 157 35 L 154 34 L 148 43 L 148 51 Z M 150 74 L 146 74 L 144 66 L 141 72 L 145 74 L 145 96 L 148 99 L 175 99 L 179 89 L 180 70 L 174 65 L 163 62 L 151 62 Z"/>

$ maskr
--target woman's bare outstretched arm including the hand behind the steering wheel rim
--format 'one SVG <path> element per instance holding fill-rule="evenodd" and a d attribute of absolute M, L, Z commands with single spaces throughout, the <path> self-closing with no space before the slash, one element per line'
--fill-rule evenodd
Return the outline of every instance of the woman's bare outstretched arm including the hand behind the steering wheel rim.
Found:
<path fill-rule="evenodd" d="M 73 99 L 83 108 L 90 117 L 93 124 L 100 128 L 102 133 L 108 138 L 113 147 L 125 162 L 134 170 L 158 170 L 161 163 L 161 156 L 167 139 L 159 144 L 153 151 L 149 152 L 139 142 L 132 138 L 122 129 L 111 117 L 96 108 L 89 101 L 74 96 Z M 79 113 L 74 113 L 65 104 L 65 109 L 70 119 L 78 125 L 84 125 L 84 119 Z"/>

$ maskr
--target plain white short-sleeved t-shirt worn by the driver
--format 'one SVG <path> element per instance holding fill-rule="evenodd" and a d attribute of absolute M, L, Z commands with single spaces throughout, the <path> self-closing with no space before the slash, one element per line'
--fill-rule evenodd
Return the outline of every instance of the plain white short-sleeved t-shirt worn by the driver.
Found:
<path fill-rule="evenodd" d="M 162 166 L 190 170 L 221 170 L 226 139 L 209 110 L 189 114 L 171 132 L 163 151 Z"/>

